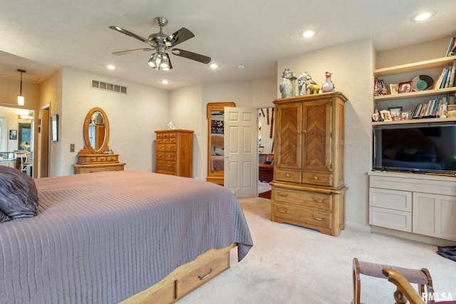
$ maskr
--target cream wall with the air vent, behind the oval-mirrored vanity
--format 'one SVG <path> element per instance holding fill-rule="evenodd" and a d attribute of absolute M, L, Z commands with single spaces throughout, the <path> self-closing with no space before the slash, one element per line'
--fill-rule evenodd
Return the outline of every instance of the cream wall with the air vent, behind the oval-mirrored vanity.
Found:
<path fill-rule="evenodd" d="M 90 88 L 90 79 L 124 85 L 128 94 Z M 43 103 L 51 103 L 51 115 L 59 115 L 58 142 L 51 142 L 50 176 L 73 174 L 71 164 L 83 149 L 83 122 L 95 107 L 108 115 L 109 146 L 120 154 L 120 162 L 127 163 L 125 169 L 152 171 L 154 130 L 166 127 L 170 116 L 168 91 L 67 67 L 42 87 Z M 70 152 L 72 143 L 75 152 Z"/>

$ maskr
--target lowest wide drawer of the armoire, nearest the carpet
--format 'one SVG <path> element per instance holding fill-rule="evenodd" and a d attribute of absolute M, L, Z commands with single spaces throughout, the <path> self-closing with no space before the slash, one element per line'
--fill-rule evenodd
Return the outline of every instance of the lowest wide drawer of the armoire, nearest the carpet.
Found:
<path fill-rule="evenodd" d="M 326 211 L 319 211 L 317 209 L 300 208 L 298 206 L 291 206 L 287 204 L 272 204 L 273 212 L 276 218 L 281 218 L 286 221 L 287 219 L 307 223 L 312 226 L 319 226 L 323 228 L 331 228 L 331 213 Z"/>

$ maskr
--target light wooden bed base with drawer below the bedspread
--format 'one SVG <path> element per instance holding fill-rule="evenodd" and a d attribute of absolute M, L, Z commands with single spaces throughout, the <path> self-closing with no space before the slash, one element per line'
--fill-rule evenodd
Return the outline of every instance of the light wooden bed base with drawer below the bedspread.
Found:
<path fill-rule="evenodd" d="M 229 268 L 229 251 L 235 247 L 237 243 L 206 251 L 194 261 L 177 267 L 162 281 L 132 295 L 120 304 L 175 303 L 226 271 Z"/>

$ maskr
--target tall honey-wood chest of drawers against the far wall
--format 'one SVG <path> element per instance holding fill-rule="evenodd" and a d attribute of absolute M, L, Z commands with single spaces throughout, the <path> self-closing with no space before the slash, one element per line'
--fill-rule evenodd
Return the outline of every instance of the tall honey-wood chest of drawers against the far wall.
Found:
<path fill-rule="evenodd" d="M 157 130 L 155 172 L 192 177 L 193 131 Z"/>

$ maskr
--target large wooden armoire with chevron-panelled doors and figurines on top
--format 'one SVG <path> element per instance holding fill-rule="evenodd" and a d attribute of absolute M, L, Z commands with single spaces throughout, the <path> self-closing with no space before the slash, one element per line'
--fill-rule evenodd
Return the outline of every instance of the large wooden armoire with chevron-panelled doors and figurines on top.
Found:
<path fill-rule="evenodd" d="M 271 221 L 338 236 L 345 228 L 341 92 L 274 100 Z"/>

